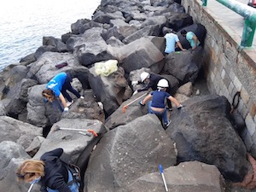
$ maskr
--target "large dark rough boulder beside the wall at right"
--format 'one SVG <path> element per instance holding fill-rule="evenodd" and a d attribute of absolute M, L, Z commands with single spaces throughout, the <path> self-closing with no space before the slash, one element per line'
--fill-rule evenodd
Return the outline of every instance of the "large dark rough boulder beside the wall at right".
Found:
<path fill-rule="evenodd" d="M 247 149 L 231 125 L 230 103 L 224 96 L 196 96 L 172 113 L 166 133 L 177 144 L 177 160 L 218 167 L 224 178 L 241 182 L 251 169 Z"/>

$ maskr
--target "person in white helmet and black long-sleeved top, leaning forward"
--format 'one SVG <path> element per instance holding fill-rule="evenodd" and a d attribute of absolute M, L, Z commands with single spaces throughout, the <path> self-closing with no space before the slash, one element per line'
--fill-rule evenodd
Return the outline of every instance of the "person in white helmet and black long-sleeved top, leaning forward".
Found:
<path fill-rule="evenodd" d="M 143 72 L 143 73 L 141 73 L 141 82 L 146 83 L 147 85 L 145 87 L 143 87 L 142 89 L 139 89 L 136 91 L 141 92 L 144 90 L 149 90 L 150 88 L 152 90 L 157 90 L 157 84 L 160 81 L 160 79 L 163 79 L 163 77 L 161 77 L 158 74 Z M 167 80 L 167 82 L 168 82 L 168 80 Z M 168 84 L 170 84 L 170 83 L 168 82 Z M 166 87 L 166 92 L 169 94 L 171 93 L 170 86 Z M 169 99 L 167 99 L 166 103 L 167 103 L 167 109 L 172 111 L 172 102 Z"/>

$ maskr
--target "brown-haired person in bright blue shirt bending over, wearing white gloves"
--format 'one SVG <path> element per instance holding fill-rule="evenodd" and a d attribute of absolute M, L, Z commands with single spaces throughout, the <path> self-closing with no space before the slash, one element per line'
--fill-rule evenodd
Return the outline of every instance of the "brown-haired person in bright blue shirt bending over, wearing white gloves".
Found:
<path fill-rule="evenodd" d="M 44 96 L 44 98 L 49 102 L 53 102 L 55 97 L 60 98 L 64 107 L 64 112 L 67 112 L 68 107 L 73 103 L 71 96 L 67 93 L 67 90 L 72 92 L 78 98 L 84 98 L 84 96 L 81 96 L 77 90 L 73 89 L 71 85 L 72 80 L 73 79 L 69 73 L 58 73 L 49 81 L 48 84 L 46 84 L 46 89 L 42 91 L 42 96 Z M 66 102 L 65 98 L 67 98 L 68 102 Z"/>

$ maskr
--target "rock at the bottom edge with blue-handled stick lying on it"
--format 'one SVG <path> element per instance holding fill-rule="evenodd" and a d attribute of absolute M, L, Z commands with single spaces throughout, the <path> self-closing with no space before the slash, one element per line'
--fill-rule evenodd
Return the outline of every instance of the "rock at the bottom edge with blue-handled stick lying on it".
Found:
<path fill-rule="evenodd" d="M 224 178 L 216 166 L 199 161 L 180 163 L 164 170 L 166 186 L 172 192 L 224 192 Z M 139 177 L 125 189 L 127 192 L 164 191 L 165 187 L 160 172 L 153 172 Z"/>

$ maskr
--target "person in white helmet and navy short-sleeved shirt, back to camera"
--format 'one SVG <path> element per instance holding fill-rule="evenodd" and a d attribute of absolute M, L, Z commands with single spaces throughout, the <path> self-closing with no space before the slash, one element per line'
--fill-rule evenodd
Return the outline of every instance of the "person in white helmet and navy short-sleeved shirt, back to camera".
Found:
<path fill-rule="evenodd" d="M 183 105 L 180 104 L 176 98 L 166 92 L 166 88 L 169 86 L 166 79 L 160 79 L 157 86 L 157 90 L 151 92 L 139 103 L 144 106 L 146 102 L 150 101 L 148 102 L 148 113 L 154 113 L 157 116 L 161 116 L 164 121 L 164 128 L 166 129 L 172 122 L 171 120 L 168 120 L 167 117 L 167 110 L 165 106 L 166 98 L 171 102 L 174 102 L 178 109 L 182 108 Z"/>

